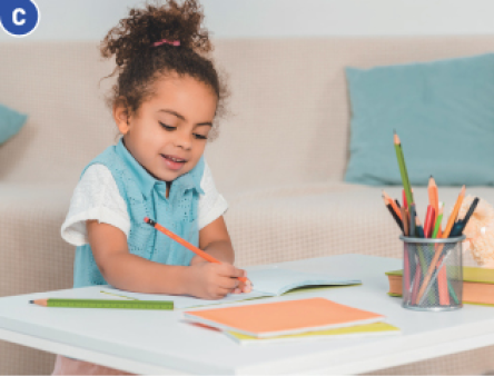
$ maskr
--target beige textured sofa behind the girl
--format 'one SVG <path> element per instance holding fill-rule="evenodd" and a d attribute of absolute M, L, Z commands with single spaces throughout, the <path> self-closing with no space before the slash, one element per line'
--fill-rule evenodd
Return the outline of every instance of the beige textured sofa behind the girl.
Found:
<path fill-rule="evenodd" d="M 381 189 L 343 181 L 350 117 L 344 67 L 493 48 L 494 37 L 218 40 L 215 57 L 233 96 L 206 157 L 229 202 L 237 265 L 346 253 L 401 257 Z M 116 140 L 102 99 L 111 79 L 98 88 L 112 68 L 95 42 L 0 44 L 0 102 L 29 113 L 21 132 L 0 147 L 0 296 L 72 285 L 73 247 L 61 240 L 60 225 L 81 169 Z M 415 192 L 423 209 L 425 191 Z M 439 187 L 449 206 L 457 192 Z M 468 192 L 494 202 L 491 188 Z M 383 276 L 383 294 L 386 288 Z M 494 367 L 493 354 L 488 347 L 378 374 L 483 373 Z M 0 342 L 0 374 L 48 374 L 53 359 Z"/>

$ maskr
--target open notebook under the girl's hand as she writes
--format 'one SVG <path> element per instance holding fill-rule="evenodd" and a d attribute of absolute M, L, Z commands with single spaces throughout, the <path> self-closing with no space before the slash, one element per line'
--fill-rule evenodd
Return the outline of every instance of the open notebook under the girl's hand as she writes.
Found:
<path fill-rule="evenodd" d="M 310 286 L 350 286 L 359 285 L 359 279 L 332 278 L 328 275 L 313 274 L 305 271 L 295 271 L 269 267 L 254 269 L 247 273 L 247 277 L 254 285 L 253 291 L 249 294 L 229 294 L 223 299 L 206 300 L 189 296 L 174 296 L 161 294 L 139 294 L 117 289 L 112 286 L 101 286 L 101 290 L 111 294 L 124 295 L 135 299 L 142 300 L 174 300 L 175 308 L 192 308 L 208 305 L 231 303 L 238 300 L 256 299 L 269 296 L 279 296 L 300 287 Z"/>

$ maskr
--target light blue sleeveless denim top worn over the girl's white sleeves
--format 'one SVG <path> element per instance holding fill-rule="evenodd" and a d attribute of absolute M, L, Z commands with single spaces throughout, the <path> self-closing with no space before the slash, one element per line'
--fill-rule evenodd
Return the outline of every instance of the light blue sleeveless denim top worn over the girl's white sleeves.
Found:
<path fill-rule="evenodd" d="M 127 204 L 130 231 L 127 237 L 129 251 L 151 261 L 167 265 L 190 265 L 194 253 L 154 229 L 144 221 L 149 217 L 170 231 L 199 246 L 198 202 L 204 195 L 200 181 L 204 172 L 204 157 L 187 174 L 171 184 L 166 197 L 166 182 L 155 179 L 130 155 L 122 138 L 116 146 L 108 147 L 82 170 L 93 165 L 105 165 L 117 182 L 120 196 Z M 76 248 L 73 287 L 107 285 L 92 256 L 89 244 Z"/>

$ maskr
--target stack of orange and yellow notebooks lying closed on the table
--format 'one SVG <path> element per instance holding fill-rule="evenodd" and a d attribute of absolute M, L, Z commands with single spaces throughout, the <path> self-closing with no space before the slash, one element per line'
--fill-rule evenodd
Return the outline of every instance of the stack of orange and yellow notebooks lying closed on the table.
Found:
<path fill-rule="evenodd" d="M 372 311 L 326 298 L 305 298 L 186 311 L 194 324 L 223 330 L 239 344 L 399 334 Z"/>

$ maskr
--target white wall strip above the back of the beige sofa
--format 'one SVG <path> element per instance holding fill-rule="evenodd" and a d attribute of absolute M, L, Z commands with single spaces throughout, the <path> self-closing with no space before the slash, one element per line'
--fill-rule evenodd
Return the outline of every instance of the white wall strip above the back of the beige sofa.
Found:
<path fill-rule="evenodd" d="M 138 0 L 34 0 L 22 40 L 100 40 Z M 494 33 L 493 0 L 201 0 L 217 38 Z M 0 40 L 11 41 L 0 29 Z M 16 41 L 20 41 L 16 39 Z"/>

